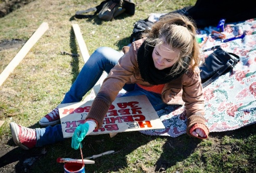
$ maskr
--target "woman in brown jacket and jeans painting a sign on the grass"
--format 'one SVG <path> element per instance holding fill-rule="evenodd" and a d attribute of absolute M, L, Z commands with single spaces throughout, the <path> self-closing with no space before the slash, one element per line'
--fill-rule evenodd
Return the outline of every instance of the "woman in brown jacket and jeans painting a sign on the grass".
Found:
<path fill-rule="evenodd" d="M 110 105 L 123 88 L 123 96 L 146 95 L 155 110 L 185 102 L 187 134 L 207 138 L 204 99 L 199 75 L 196 27 L 177 13 L 165 15 L 144 38 L 123 48 L 124 55 L 107 47 L 98 48 L 84 64 L 61 104 L 80 102 L 93 88 L 103 70 L 108 73 L 96 95 L 85 123 L 76 127 L 71 147 L 100 128 Z M 64 140 L 58 107 L 40 120 L 45 128 L 27 128 L 10 123 L 12 138 L 23 149 Z M 57 125 L 56 125 L 57 124 Z M 54 125 L 54 126 L 51 126 Z"/>

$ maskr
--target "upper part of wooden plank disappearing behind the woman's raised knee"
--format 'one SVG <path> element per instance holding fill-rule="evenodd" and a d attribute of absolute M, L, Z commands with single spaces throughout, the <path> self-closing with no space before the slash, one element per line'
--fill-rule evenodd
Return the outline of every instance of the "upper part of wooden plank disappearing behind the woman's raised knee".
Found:
<path fill-rule="evenodd" d="M 80 52 L 82 54 L 82 58 L 84 60 L 84 63 L 86 63 L 86 61 L 89 59 L 89 52 L 87 49 L 87 46 L 84 42 L 83 36 L 81 34 L 81 30 L 78 24 L 72 24 L 73 30 L 74 30 L 74 34 L 75 34 L 75 38 L 78 41 L 78 46 L 80 49 Z"/>

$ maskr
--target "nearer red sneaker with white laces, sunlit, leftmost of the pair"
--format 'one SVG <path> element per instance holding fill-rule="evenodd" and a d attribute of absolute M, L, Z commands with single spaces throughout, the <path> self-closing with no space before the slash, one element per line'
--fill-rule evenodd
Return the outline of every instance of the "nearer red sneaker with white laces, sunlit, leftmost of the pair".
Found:
<path fill-rule="evenodd" d="M 17 146 L 25 150 L 34 148 L 36 145 L 35 129 L 23 127 L 14 122 L 10 123 L 12 139 Z"/>

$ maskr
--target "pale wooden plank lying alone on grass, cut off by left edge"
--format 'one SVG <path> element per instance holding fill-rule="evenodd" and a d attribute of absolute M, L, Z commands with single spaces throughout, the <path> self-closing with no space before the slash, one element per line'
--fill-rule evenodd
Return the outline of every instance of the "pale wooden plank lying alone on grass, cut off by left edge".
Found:
<path fill-rule="evenodd" d="M 19 63 L 23 60 L 25 55 L 30 51 L 30 49 L 34 46 L 37 40 L 48 30 L 49 26 L 47 22 L 43 22 L 39 28 L 34 32 L 34 34 L 29 38 L 27 42 L 23 45 L 20 51 L 16 54 L 14 59 L 7 65 L 7 67 L 0 74 L 0 86 L 4 83 L 4 81 L 8 78 L 10 73 L 19 65 Z"/>

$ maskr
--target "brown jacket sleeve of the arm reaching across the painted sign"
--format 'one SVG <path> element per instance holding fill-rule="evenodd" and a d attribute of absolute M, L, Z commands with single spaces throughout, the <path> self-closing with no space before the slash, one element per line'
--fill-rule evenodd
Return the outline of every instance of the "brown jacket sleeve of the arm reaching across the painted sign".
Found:
<path fill-rule="evenodd" d="M 96 128 L 101 127 L 110 105 L 124 84 L 130 81 L 135 68 L 137 68 L 136 48 L 132 44 L 129 51 L 120 58 L 118 64 L 111 69 L 104 80 L 85 120 L 93 119 L 98 124 Z"/>

